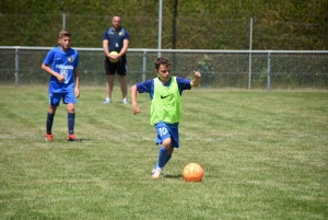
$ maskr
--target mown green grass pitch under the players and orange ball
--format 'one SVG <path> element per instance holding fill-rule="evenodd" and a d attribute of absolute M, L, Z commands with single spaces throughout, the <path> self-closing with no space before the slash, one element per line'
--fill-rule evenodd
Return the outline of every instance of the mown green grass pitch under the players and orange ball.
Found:
<path fill-rule="evenodd" d="M 153 181 L 148 95 L 134 116 L 104 89 L 81 88 L 82 142 L 62 104 L 46 142 L 47 88 L 0 86 L 0 219 L 328 218 L 327 92 L 184 92 L 180 149 Z M 190 162 L 202 182 L 183 180 Z"/>

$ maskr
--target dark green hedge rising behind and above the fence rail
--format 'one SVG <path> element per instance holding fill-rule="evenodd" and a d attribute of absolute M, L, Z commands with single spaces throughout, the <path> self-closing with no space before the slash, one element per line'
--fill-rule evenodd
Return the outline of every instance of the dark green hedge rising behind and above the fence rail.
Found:
<path fill-rule="evenodd" d="M 102 47 L 117 14 L 130 48 L 157 48 L 159 2 L 2 0 L 0 45 L 55 46 L 66 26 L 72 46 Z M 162 48 L 325 50 L 327 11 L 327 0 L 163 0 Z"/>

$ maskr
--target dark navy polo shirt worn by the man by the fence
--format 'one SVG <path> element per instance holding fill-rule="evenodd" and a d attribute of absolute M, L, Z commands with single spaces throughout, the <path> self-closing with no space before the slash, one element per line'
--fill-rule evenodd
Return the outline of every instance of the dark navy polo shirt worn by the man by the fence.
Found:
<path fill-rule="evenodd" d="M 108 40 L 109 53 L 119 53 L 122 48 L 124 40 L 130 40 L 130 34 L 122 27 L 119 31 L 115 31 L 113 27 L 110 27 L 103 34 L 103 40 L 104 39 Z M 122 58 L 126 59 L 126 55 L 124 55 Z"/>

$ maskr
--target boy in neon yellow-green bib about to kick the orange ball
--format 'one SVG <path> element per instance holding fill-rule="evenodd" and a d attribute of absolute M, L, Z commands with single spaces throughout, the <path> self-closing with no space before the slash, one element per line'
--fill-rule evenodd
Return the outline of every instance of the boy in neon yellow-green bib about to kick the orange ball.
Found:
<path fill-rule="evenodd" d="M 153 167 L 153 180 L 163 176 L 163 169 L 172 158 L 174 148 L 179 147 L 178 125 L 181 119 L 181 94 L 184 90 L 198 86 L 201 74 L 194 71 L 194 80 L 171 76 L 171 61 L 157 58 L 155 61 L 156 78 L 137 83 L 131 88 L 133 114 L 140 113 L 137 92 L 149 93 L 151 99 L 151 124 L 155 126 L 160 144 L 157 163 Z"/>

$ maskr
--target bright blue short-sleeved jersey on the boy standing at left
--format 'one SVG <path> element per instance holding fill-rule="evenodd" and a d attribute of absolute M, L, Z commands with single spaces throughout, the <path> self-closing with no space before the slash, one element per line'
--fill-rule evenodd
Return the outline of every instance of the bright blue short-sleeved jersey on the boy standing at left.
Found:
<path fill-rule="evenodd" d="M 49 92 L 66 93 L 74 89 L 74 69 L 79 66 L 79 54 L 75 49 L 68 51 L 60 49 L 60 46 L 51 49 L 44 60 L 46 66 L 51 65 L 51 69 L 65 77 L 65 82 L 59 82 L 54 76 L 50 77 Z"/>

